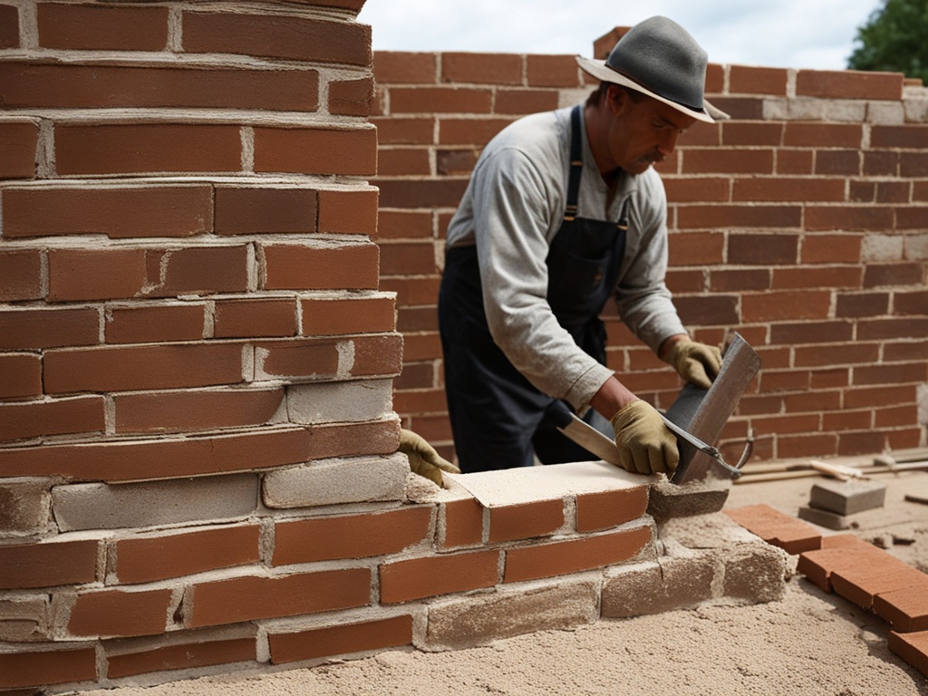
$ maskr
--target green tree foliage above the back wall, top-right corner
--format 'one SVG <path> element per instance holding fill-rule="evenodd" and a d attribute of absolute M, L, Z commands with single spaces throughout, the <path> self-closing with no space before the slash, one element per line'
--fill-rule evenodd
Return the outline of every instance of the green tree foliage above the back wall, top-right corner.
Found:
<path fill-rule="evenodd" d="M 928 84 L 928 0 L 883 0 L 857 28 L 847 67 L 903 72 Z"/>

